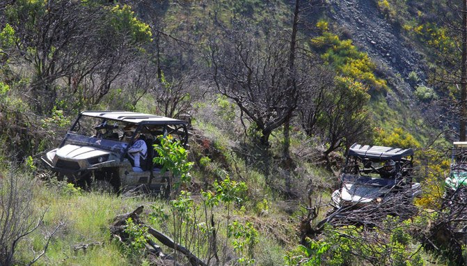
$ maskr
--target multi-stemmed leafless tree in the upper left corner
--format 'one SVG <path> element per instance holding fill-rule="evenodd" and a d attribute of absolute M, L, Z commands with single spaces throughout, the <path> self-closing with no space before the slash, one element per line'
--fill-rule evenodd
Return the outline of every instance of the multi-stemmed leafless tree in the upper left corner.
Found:
<path fill-rule="evenodd" d="M 31 99 L 38 111 L 52 108 L 57 97 L 54 82 L 70 75 L 70 71 L 84 59 L 85 40 L 90 38 L 93 24 L 97 24 L 96 10 L 77 1 L 47 1 L 47 3 L 16 3 L 16 20 L 9 19 L 15 28 L 17 51 L 15 63 L 22 60 L 33 65 Z M 47 12 L 45 12 L 47 10 Z M 77 45 L 79 43 L 79 45 Z M 71 49 L 79 48 L 74 53 Z M 46 110 L 44 110 L 46 111 Z"/>

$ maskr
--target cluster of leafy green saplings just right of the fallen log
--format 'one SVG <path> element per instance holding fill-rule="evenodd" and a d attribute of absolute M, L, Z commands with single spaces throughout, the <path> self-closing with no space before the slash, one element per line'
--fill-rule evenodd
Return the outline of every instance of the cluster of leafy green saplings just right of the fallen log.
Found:
<path fill-rule="evenodd" d="M 230 223 L 232 209 L 245 201 L 246 184 L 230 180 L 227 176 L 221 182 L 215 181 L 213 188 L 214 191 L 201 191 L 200 203 L 193 201 L 189 192 L 181 191 L 177 198 L 170 201 L 168 210 L 153 205 L 149 217 L 161 226 L 171 224 L 171 227 L 167 228 L 171 236 L 175 242 L 187 249 L 197 243 L 197 256 L 208 258 L 207 264 L 212 259 L 215 259 L 216 263 L 221 263 L 222 260 L 225 264 L 225 260 L 228 259 L 227 247 L 230 245 L 238 256 L 238 263 L 254 263 L 253 248 L 258 243 L 258 232 L 253 228 L 253 224 L 248 222 Z M 217 216 L 220 205 L 227 208 L 224 221 Z M 225 242 L 222 245 L 219 245 L 220 232 L 225 232 Z M 222 258 L 219 251 L 223 251 Z"/>

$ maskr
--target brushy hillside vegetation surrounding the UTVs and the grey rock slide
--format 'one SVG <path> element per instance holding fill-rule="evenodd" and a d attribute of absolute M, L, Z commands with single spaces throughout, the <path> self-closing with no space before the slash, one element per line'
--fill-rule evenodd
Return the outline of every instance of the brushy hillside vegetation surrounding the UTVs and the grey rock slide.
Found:
<path fill-rule="evenodd" d="M 452 249 L 433 229 L 448 219 L 443 172 L 459 127 L 445 104 L 459 103 L 458 34 L 437 19 L 450 6 L 373 1 L 429 61 L 429 79 L 409 75 L 418 98 L 400 99 L 321 2 L 1 0 L 0 265 L 193 261 L 151 253 L 154 230 L 206 265 L 459 263 L 465 243 Z M 427 119 L 406 102 L 426 104 Z M 190 118 L 189 150 L 171 136 L 155 148 L 181 176 L 175 193 L 56 180 L 40 157 L 85 109 Z M 415 149 L 418 212 L 318 230 L 356 142 Z M 140 205 L 125 237 L 111 235 Z"/>

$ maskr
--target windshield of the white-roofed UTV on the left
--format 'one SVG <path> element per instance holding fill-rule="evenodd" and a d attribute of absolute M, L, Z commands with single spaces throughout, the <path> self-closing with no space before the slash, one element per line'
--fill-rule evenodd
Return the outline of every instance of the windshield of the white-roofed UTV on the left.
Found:
<path fill-rule="evenodd" d="M 95 148 L 100 148 L 102 150 L 108 150 L 119 154 L 122 154 L 128 145 L 128 143 L 124 141 L 113 141 L 110 139 L 97 138 L 95 136 L 83 136 L 72 132 L 68 132 L 67 136 L 65 137 L 65 143 L 63 145 L 67 144 L 79 146 L 92 146 Z"/>

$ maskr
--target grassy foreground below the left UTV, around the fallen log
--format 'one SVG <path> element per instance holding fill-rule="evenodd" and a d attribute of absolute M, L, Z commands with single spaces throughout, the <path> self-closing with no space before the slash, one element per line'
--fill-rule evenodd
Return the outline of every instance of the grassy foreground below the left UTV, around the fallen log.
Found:
<path fill-rule="evenodd" d="M 11 178 L 13 178 L 13 185 L 5 183 L 12 180 Z M 201 239 L 199 236 L 197 244 L 193 244 L 194 241 L 190 244 L 183 236 L 184 240 L 180 238 L 180 235 L 177 238 L 176 233 L 179 228 L 180 232 L 191 232 L 187 226 L 188 220 L 191 219 L 189 217 L 195 217 L 195 219 L 198 217 L 197 224 L 203 224 L 201 221 L 203 215 L 199 212 L 200 209 L 193 207 L 181 213 L 180 209 L 174 210 L 173 204 L 165 200 L 148 198 L 147 196 L 125 198 L 116 194 L 81 191 L 81 189 L 65 182 L 35 180 L 28 173 L 10 173 L 4 175 L 2 181 L 1 194 L 5 196 L 13 191 L 18 195 L 17 201 L 26 206 L 24 208 L 25 215 L 22 217 L 24 221 L 35 226 L 43 215 L 38 228 L 19 240 L 15 248 L 15 264 L 29 264 L 46 246 L 47 251 L 35 261 L 35 265 L 149 264 L 150 262 L 146 259 L 143 251 L 112 239 L 109 230 L 114 217 L 118 214 L 132 212 L 140 205 L 145 206 L 143 219 L 147 224 L 173 237 L 176 241 L 179 240 L 181 244 L 189 247 L 194 253 L 198 253 L 204 260 L 209 256 L 207 242 L 199 242 Z M 186 199 L 187 197 L 180 196 L 178 203 L 186 201 Z M 202 204 L 199 196 L 192 196 L 191 200 L 193 200 L 192 206 L 199 207 Z M 160 219 L 161 217 L 150 219 L 149 214 L 155 208 L 165 212 L 166 219 Z M 191 210 L 198 213 L 192 213 Z M 258 229 L 258 231 L 252 229 L 258 234 L 254 235 L 255 244 L 251 245 L 251 249 L 247 241 L 243 240 L 245 247 L 248 246 L 248 259 L 253 259 L 251 262 L 260 265 L 283 265 L 285 250 L 290 248 L 286 246 L 294 244 L 291 241 L 291 236 L 294 235 L 293 226 L 290 220 L 287 220 L 286 215 L 268 212 L 262 217 L 258 217 L 256 214 L 246 211 L 245 208 L 240 210 L 233 206 L 231 206 L 230 212 L 227 212 L 225 206 L 222 205 L 217 205 L 209 211 L 214 213 L 218 224 L 219 256 L 222 263 L 237 265 L 237 258 L 242 255 L 242 252 L 243 256 L 247 257 L 246 248 L 239 252 L 238 246 L 231 244 L 234 241 L 239 241 L 238 238 L 231 236 L 229 241 L 225 239 L 228 228 L 225 221 L 230 219 L 230 224 L 235 224 L 234 221 L 245 224 L 248 221 L 254 228 Z M 176 214 L 174 214 L 175 212 Z M 185 221 L 185 219 L 188 220 Z M 246 230 L 246 227 L 240 228 Z M 50 237 L 53 232 L 54 234 Z M 273 233 L 274 235 L 272 235 Z M 163 245 L 161 246 L 164 253 L 177 258 L 178 263 L 182 263 L 182 265 L 186 263 L 183 256 L 177 255 L 173 250 Z M 224 249 L 224 247 L 226 248 Z"/>

